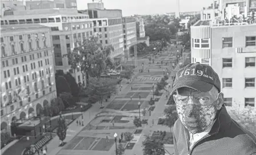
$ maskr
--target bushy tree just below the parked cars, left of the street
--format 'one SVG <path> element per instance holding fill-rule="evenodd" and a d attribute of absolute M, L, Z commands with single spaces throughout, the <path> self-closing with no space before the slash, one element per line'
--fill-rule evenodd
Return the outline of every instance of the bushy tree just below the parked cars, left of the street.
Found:
<path fill-rule="evenodd" d="M 89 100 L 94 103 L 99 101 L 101 107 L 103 107 L 102 102 L 104 99 L 118 92 L 117 81 L 113 79 L 90 78 L 89 81 L 91 83 L 87 89 Z"/>

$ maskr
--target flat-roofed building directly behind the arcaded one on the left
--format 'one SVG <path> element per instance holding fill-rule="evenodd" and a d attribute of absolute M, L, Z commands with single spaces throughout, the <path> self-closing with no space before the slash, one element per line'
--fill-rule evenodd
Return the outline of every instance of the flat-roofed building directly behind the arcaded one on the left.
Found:
<path fill-rule="evenodd" d="M 77 13 L 75 9 L 40 9 L 17 10 L 13 15 L 1 18 L 2 26 L 42 25 L 50 27 L 50 38 L 54 46 L 55 71 L 69 71 L 77 83 L 86 85 L 82 72 L 70 69 L 69 62 L 63 55 L 79 46 L 84 38 L 93 35 L 93 22 L 89 16 Z"/>

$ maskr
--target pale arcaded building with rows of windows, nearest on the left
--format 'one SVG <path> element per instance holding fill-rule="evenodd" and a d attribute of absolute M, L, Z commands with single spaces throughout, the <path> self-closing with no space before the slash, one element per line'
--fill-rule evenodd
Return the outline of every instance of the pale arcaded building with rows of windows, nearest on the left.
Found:
<path fill-rule="evenodd" d="M 53 58 L 49 27 L 1 26 L 1 132 L 56 97 Z"/>

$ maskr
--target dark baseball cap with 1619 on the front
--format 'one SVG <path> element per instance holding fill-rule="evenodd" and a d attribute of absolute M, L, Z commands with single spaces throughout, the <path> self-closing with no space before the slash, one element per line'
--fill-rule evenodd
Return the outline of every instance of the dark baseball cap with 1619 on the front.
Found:
<path fill-rule="evenodd" d="M 213 68 L 207 64 L 190 63 L 177 71 L 171 94 L 182 87 L 209 92 L 213 86 L 221 92 L 221 81 Z"/>

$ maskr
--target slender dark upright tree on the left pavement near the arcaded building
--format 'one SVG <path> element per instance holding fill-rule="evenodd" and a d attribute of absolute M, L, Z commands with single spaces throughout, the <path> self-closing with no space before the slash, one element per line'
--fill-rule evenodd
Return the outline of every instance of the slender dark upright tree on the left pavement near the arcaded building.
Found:
<path fill-rule="evenodd" d="M 61 115 L 59 115 L 57 136 L 59 137 L 59 140 L 62 142 L 62 144 L 66 138 L 66 134 L 67 134 L 66 120 Z"/>

